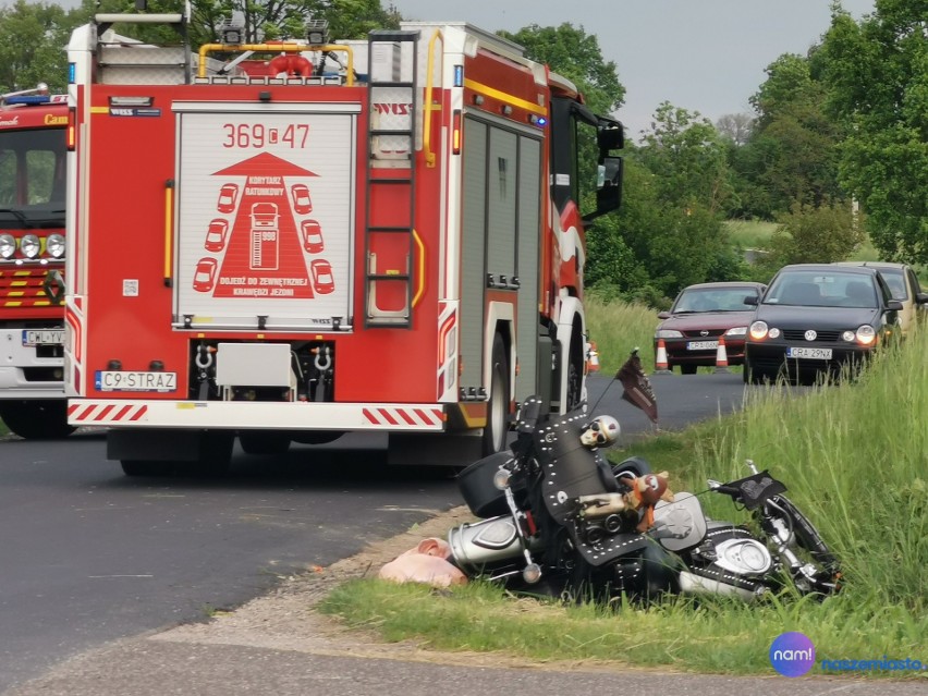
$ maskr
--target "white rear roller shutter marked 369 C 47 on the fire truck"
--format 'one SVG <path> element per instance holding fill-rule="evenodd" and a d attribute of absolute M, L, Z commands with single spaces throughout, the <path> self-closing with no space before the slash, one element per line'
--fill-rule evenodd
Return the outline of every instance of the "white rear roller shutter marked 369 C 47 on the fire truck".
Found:
<path fill-rule="evenodd" d="M 174 327 L 346 328 L 361 106 L 187 102 L 173 110 Z"/>

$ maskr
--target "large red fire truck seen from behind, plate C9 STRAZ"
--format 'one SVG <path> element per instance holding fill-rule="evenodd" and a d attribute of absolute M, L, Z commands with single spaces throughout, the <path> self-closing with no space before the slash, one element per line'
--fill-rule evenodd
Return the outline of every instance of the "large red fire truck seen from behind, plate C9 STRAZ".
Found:
<path fill-rule="evenodd" d="M 464 23 L 113 37 L 146 21 L 185 35 L 108 14 L 69 46 L 69 420 L 107 427 L 127 475 L 346 431 L 460 464 L 529 394 L 583 399 L 584 229 L 619 206 L 619 122 Z"/>

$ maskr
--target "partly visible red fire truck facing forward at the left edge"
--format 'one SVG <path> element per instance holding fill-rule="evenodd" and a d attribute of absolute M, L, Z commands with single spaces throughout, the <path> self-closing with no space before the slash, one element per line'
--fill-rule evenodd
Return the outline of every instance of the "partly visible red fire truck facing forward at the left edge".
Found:
<path fill-rule="evenodd" d="M 62 384 L 65 95 L 0 96 L 0 417 L 24 438 L 71 434 Z"/>

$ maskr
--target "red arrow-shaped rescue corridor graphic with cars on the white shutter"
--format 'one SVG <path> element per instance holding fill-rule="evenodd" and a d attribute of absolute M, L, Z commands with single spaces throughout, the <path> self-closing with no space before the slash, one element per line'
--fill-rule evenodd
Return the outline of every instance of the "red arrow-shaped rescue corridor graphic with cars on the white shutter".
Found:
<path fill-rule="evenodd" d="M 213 176 L 220 183 L 216 213 L 233 218 L 225 220 L 224 240 L 221 218 L 206 232 L 204 248 L 221 254 L 221 264 L 212 256 L 200 258 L 193 289 L 213 297 L 314 297 L 300 239 L 303 225 L 294 213 L 312 212 L 308 178 L 316 174 L 261 152 Z M 330 282 L 317 292 L 331 292 Z"/>

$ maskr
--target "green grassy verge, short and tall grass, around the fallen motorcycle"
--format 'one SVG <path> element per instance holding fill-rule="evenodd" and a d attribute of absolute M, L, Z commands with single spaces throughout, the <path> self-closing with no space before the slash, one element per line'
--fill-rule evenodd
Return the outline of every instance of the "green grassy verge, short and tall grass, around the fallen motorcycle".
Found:
<path fill-rule="evenodd" d="M 608 333 L 601 326 L 596 331 Z M 609 341 L 602 347 L 613 350 Z M 436 649 L 541 661 L 773 673 L 771 642 L 799 631 L 814 642 L 817 660 L 886 656 L 928 662 L 927 352 L 923 330 L 857 380 L 802 398 L 771 389 L 740 414 L 610 453 L 639 454 L 669 469 L 675 490 L 701 491 L 708 477 L 742 476 L 748 457 L 770 468 L 841 559 L 845 587 L 837 597 L 817 602 L 786 594 L 752 606 L 677 598 L 615 611 L 513 599 L 480 583 L 435 593 L 362 579 L 339 587 L 322 609 L 387 640 L 416 638 Z M 710 515 L 744 521 L 721 496 L 704 499 Z M 818 664 L 813 673 L 821 673 Z"/>

